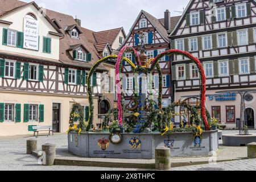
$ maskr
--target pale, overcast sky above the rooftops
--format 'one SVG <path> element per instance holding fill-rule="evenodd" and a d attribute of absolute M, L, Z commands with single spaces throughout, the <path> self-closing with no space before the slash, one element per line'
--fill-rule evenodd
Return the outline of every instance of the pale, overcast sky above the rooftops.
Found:
<path fill-rule="evenodd" d="M 32 0 L 20 0 L 31 2 Z M 156 18 L 181 15 L 189 0 L 35 0 L 40 7 L 72 15 L 81 19 L 82 27 L 102 31 L 123 27 L 126 34 L 141 10 Z M 179 12 L 177 12 L 179 11 Z"/>

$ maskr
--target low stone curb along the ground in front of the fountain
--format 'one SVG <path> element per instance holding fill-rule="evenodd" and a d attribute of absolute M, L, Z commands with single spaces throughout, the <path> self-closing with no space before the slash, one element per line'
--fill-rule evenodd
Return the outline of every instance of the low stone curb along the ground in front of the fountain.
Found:
<path fill-rule="evenodd" d="M 40 158 L 41 155 L 38 154 L 38 151 L 33 151 L 32 155 L 36 158 Z M 217 160 L 217 163 L 220 162 L 230 162 L 235 160 L 244 160 L 248 158 L 241 159 L 223 159 Z M 57 166 L 85 166 L 85 167 L 110 167 L 110 168 L 139 168 L 139 169 L 155 169 L 155 163 L 116 163 L 116 162 L 99 162 L 99 161 L 90 161 L 90 160 L 73 160 L 73 159 L 62 159 L 55 158 L 55 165 Z M 200 164 L 209 164 L 208 161 L 197 161 L 197 162 L 176 162 L 171 163 L 172 168 L 175 167 L 185 167 L 185 166 L 195 166 Z"/>

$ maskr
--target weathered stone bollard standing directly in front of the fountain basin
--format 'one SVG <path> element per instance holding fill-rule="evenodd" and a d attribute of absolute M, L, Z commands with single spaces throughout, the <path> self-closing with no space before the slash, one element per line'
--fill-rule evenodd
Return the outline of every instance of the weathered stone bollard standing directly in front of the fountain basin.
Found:
<path fill-rule="evenodd" d="M 155 168 L 156 170 L 171 169 L 171 150 L 167 147 L 158 147 L 155 149 Z"/>

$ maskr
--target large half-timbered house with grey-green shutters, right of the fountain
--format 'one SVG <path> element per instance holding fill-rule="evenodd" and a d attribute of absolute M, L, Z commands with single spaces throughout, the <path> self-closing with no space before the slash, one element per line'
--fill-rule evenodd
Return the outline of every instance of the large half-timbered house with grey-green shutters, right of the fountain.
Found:
<path fill-rule="evenodd" d="M 191 0 L 171 32 L 171 47 L 191 52 L 204 65 L 207 109 L 227 128 L 236 127 L 241 101 L 217 91 L 256 88 L 256 2 L 251 0 Z M 191 60 L 172 57 L 175 100 L 197 96 L 200 75 Z M 246 96 L 247 125 L 255 127 L 255 94 Z"/>

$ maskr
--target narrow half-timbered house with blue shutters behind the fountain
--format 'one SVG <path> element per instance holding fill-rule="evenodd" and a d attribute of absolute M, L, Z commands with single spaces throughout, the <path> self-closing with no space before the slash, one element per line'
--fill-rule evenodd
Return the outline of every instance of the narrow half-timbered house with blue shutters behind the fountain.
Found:
<path fill-rule="evenodd" d="M 166 10 L 164 13 L 164 19 L 157 19 L 154 16 L 148 14 L 146 11 L 141 11 L 137 19 L 135 20 L 133 26 L 130 29 L 123 46 L 133 46 L 136 51 L 141 50 L 141 40 L 139 40 L 139 34 L 144 35 L 144 43 L 146 44 L 146 54 L 147 58 L 156 57 L 159 53 L 170 49 L 170 40 L 168 39 L 168 32 L 171 32 L 174 28 L 174 24 L 177 23 L 180 16 L 171 17 L 170 11 Z M 131 53 L 126 53 L 125 55 L 130 60 L 135 63 L 134 57 Z M 170 57 L 166 56 L 160 60 L 160 67 L 163 72 L 163 107 L 167 107 L 171 104 L 171 62 Z M 123 73 L 125 73 L 126 78 L 123 78 L 123 89 L 125 92 L 126 100 L 133 97 L 134 90 L 134 78 L 130 75 L 131 67 L 129 65 L 124 65 Z M 158 74 L 153 73 L 152 88 L 154 89 L 155 104 L 157 104 L 158 95 Z"/>

